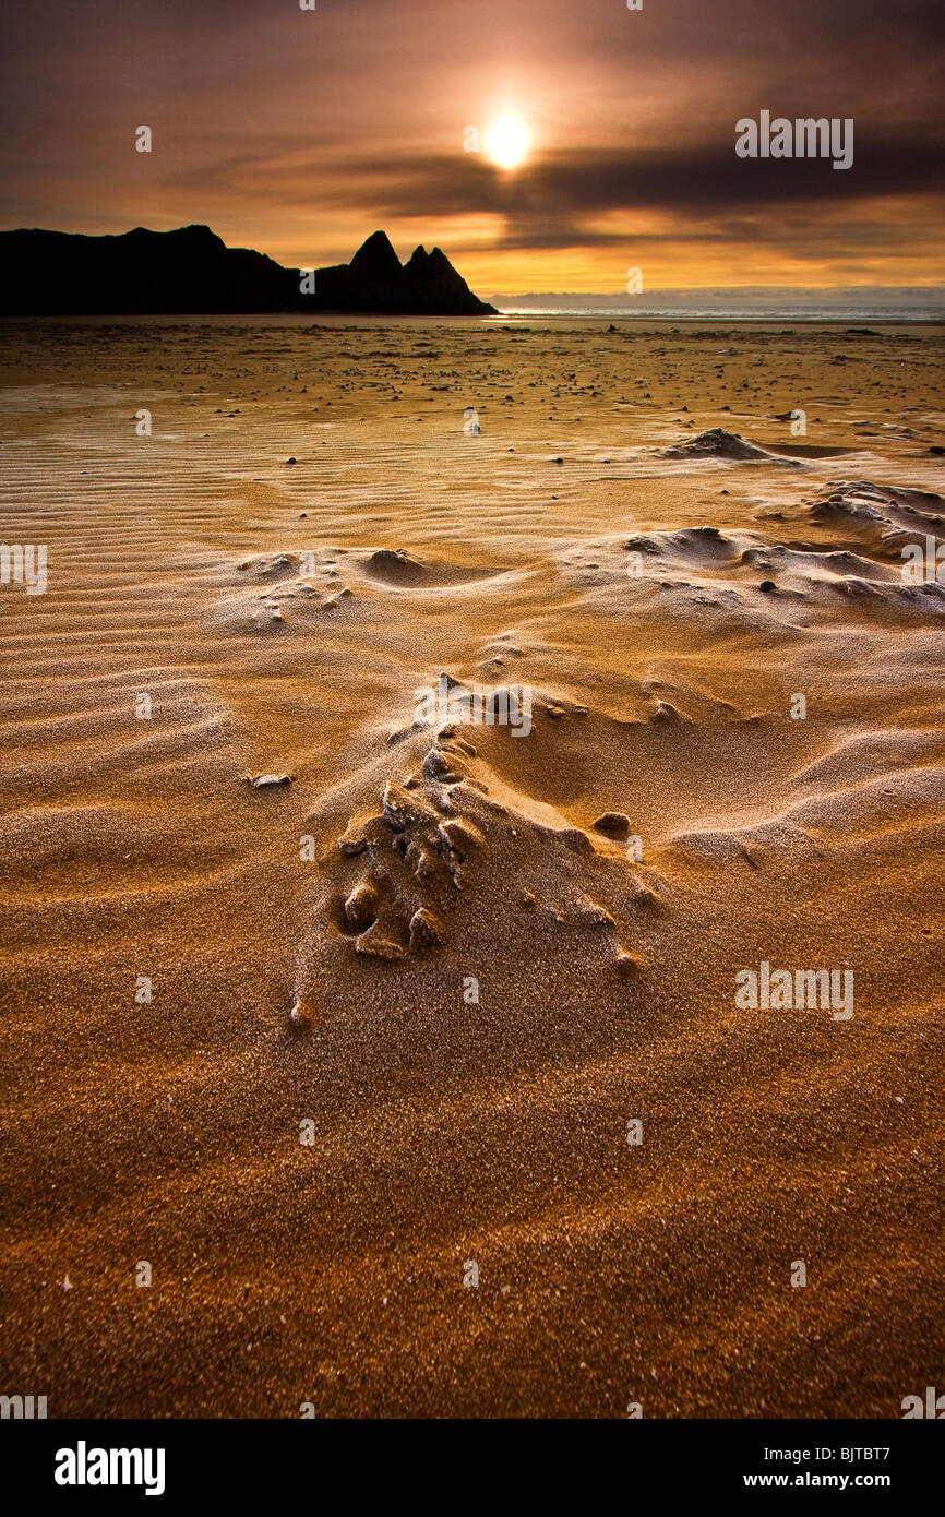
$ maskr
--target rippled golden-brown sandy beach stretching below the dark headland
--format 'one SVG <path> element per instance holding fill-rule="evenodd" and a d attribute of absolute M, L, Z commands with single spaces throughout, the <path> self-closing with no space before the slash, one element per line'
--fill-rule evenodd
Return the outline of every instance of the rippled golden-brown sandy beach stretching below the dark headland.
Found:
<path fill-rule="evenodd" d="M 942 331 L 3 335 L 3 1385 L 942 1385 Z"/>

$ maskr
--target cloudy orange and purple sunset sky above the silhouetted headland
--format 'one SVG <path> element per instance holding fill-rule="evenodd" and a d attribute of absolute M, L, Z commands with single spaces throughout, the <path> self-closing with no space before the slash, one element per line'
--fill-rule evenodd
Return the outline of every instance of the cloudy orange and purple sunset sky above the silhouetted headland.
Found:
<path fill-rule="evenodd" d="M 293 267 L 384 228 L 484 296 L 942 284 L 943 0 L 316 5 L 8 5 L 0 226 L 200 221 Z M 739 158 L 761 111 L 852 118 L 852 167 Z"/>

